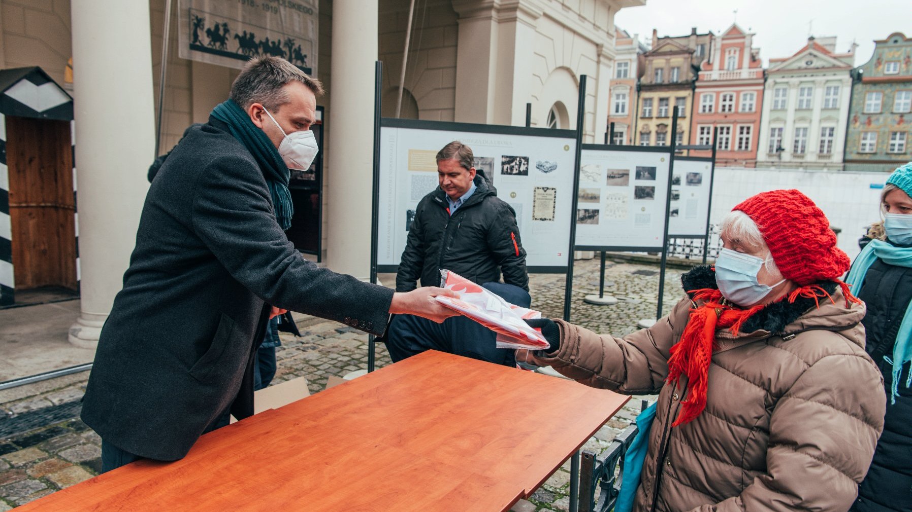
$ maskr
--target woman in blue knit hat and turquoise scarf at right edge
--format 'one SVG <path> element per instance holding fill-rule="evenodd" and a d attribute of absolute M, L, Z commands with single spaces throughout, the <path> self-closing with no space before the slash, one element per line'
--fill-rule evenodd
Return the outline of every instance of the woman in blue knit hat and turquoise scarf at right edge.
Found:
<path fill-rule="evenodd" d="M 880 196 L 884 220 L 845 280 L 867 304 L 865 350 L 884 374 L 886 419 L 854 512 L 912 510 L 912 162 Z"/>

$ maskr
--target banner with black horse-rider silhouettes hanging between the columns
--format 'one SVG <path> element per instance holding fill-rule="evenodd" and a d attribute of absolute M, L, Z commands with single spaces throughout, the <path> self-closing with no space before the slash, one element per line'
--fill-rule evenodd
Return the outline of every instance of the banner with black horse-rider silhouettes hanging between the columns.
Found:
<path fill-rule="evenodd" d="M 316 0 L 178 0 L 178 55 L 225 67 L 281 56 L 316 76 Z"/>

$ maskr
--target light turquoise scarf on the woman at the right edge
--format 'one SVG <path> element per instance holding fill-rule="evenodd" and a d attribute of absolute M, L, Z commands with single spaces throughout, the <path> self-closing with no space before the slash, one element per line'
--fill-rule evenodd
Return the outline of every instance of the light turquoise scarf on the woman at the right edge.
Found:
<path fill-rule="evenodd" d="M 876 260 L 883 260 L 897 267 L 912 268 L 912 248 L 896 247 L 886 243 L 886 241 L 872 240 L 861 254 L 855 258 L 852 270 L 849 271 L 845 282 L 852 287 L 855 296 L 861 291 L 862 284 L 865 282 L 867 269 L 871 263 Z M 896 333 L 896 344 L 893 345 L 893 360 L 886 359 L 887 363 L 893 364 L 893 390 L 890 395 L 890 403 L 896 404 L 898 393 L 899 374 L 903 369 L 903 364 L 912 361 L 912 301 L 906 308 L 906 315 L 903 316 L 903 322 L 899 324 L 899 333 Z M 906 380 L 906 387 L 912 385 L 912 372 L 909 372 L 909 378 Z"/>

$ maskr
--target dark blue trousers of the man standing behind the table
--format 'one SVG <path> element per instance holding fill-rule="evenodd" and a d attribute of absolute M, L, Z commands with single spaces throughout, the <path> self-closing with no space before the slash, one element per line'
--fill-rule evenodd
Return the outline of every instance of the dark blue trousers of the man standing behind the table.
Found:
<path fill-rule="evenodd" d="M 518 286 L 485 282 L 482 286 L 504 301 L 529 307 L 532 297 Z M 436 323 L 420 316 L 399 314 L 389 324 L 387 350 L 393 363 L 426 350 L 455 353 L 493 364 L 515 366 L 513 349 L 497 348 L 497 334 L 465 316 Z"/>

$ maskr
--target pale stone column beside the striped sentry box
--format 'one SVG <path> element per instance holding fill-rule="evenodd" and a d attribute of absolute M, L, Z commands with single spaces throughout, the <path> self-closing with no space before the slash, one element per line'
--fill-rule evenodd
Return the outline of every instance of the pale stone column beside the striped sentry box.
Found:
<path fill-rule="evenodd" d="M 92 348 L 122 286 L 155 157 L 148 0 L 72 0 L 81 312 Z"/>

